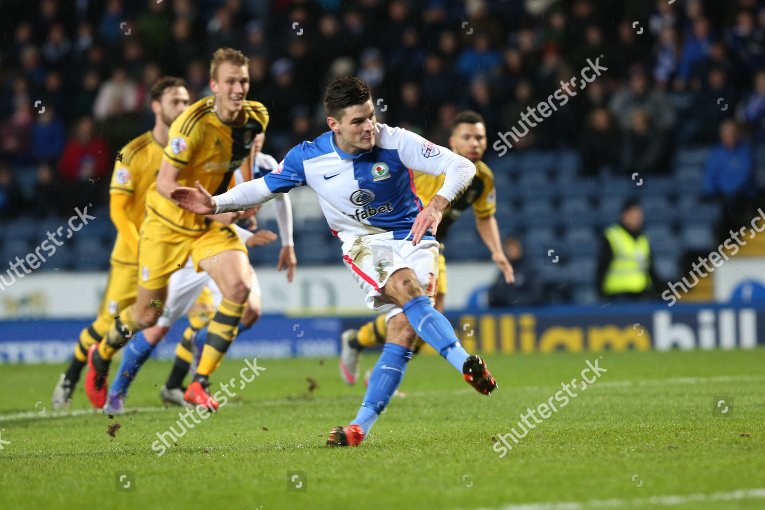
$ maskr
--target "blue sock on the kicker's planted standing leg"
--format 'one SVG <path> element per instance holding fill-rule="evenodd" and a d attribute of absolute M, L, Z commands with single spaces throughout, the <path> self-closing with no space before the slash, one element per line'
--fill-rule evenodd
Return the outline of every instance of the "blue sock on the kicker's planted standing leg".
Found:
<path fill-rule="evenodd" d="M 356 418 L 350 422 L 352 425 L 359 425 L 364 430 L 365 436 L 369 435 L 369 429 L 399 388 L 410 359 L 412 359 L 412 349 L 395 343 L 386 343 L 382 346 L 382 355 L 369 377 L 369 387 L 366 388 L 364 403 L 361 404 L 359 414 L 356 414 Z"/>

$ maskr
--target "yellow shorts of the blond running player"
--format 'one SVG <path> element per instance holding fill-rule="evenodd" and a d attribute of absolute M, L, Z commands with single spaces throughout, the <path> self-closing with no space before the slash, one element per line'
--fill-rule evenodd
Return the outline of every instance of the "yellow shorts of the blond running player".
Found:
<path fill-rule="evenodd" d="M 147 289 L 167 287 L 170 275 L 186 265 L 189 257 L 200 271 L 199 262 L 226 250 L 247 253 L 236 230 L 213 222 L 207 230 L 194 236 L 181 234 L 151 214 L 141 226 L 138 245 L 138 284 Z"/>

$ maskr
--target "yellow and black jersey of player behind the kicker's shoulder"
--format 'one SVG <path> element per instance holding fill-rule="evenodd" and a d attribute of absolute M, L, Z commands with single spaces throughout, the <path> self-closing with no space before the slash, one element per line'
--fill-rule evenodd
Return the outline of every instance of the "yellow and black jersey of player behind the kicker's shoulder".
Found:
<path fill-rule="evenodd" d="M 422 205 L 427 206 L 444 185 L 446 176 L 444 174 L 434 176 L 417 171 L 414 172 L 414 176 L 417 196 L 422 200 Z M 496 213 L 494 174 L 483 161 L 476 162 L 476 176 L 473 177 L 467 190 L 444 211 L 443 219 L 438 224 L 438 232 L 436 232 L 438 241 L 446 238 L 449 226 L 470 206 L 473 206 L 477 218 L 486 218 Z"/>

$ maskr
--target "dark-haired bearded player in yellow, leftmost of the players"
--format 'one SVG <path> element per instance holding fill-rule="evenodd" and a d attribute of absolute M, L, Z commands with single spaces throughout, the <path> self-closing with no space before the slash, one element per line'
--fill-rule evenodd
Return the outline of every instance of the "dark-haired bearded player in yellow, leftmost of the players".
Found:
<path fill-rule="evenodd" d="M 70 406 L 80 372 L 87 363 L 88 349 L 101 341 L 117 312 L 135 302 L 138 232 L 145 216 L 145 196 L 162 163 L 170 125 L 188 104 L 189 93 L 184 80 L 173 76 L 159 80 L 151 87 L 154 128 L 133 138 L 117 155 L 109 184 L 109 215 L 117 229 L 117 239 L 109 258 L 109 280 L 98 317 L 80 332 L 80 341 L 74 348 L 69 368 L 61 374 L 54 389 L 54 409 Z"/>

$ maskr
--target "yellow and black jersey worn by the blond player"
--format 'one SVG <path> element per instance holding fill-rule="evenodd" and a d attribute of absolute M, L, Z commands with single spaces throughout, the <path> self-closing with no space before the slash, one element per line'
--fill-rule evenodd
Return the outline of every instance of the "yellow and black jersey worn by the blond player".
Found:
<path fill-rule="evenodd" d="M 249 156 L 252 139 L 265 131 L 269 112 L 261 103 L 245 101 L 246 117 L 239 125 L 228 125 L 215 112 L 215 97 L 208 96 L 189 106 L 170 126 L 164 161 L 181 168 L 178 183 L 194 187 L 199 180 L 213 195 L 229 187 L 233 172 Z M 155 215 L 177 232 L 196 236 L 207 228 L 203 216 L 176 206 L 152 187 L 147 214 Z"/>

